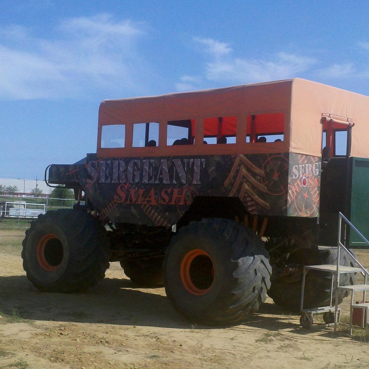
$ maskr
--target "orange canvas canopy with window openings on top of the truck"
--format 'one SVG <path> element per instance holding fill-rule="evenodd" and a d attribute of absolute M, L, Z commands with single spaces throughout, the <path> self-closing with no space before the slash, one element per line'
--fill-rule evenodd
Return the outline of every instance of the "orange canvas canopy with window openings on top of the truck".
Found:
<path fill-rule="evenodd" d="M 114 155 L 142 155 L 146 148 L 132 148 L 134 123 L 191 121 L 194 145 L 186 147 L 189 155 L 202 153 L 205 135 L 237 134 L 237 142 L 222 148 L 224 154 L 240 152 L 294 152 L 321 156 L 322 117 L 338 116 L 354 123 L 351 156 L 369 157 L 369 97 L 303 79 L 256 83 L 195 92 L 172 93 L 152 97 L 105 100 L 99 109 L 99 156 L 112 155 L 112 149 L 100 147 L 101 127 L 125 124 L 125 148 L 114 149 Z M 221 118 L 221 125 L 220 123 Z M 254 126 L 252 125 L 254 124 Z M 341 123 L 334 123 L 341 128 Z M 338 125 L 337 125 L 338 124 Z M 246 142 L 252 134 L 283 134 L 282 142 L 263 145 Z M 220 131 L 221 130 L 221 131 Z M 166 152 L 166 132 L 159 129 L 158 155 Z M 217 146 L 217 145 L 208 145 Z M 206 148 L 214 153 L 219 149 Z M 220 151 L 219 151 L 220 152 Z"/>

